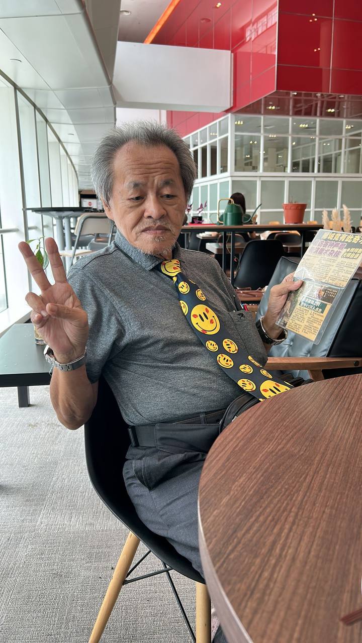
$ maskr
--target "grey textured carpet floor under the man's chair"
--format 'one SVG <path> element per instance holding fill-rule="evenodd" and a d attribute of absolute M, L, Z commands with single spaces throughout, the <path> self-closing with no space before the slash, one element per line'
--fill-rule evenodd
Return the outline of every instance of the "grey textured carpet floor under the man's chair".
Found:
<path fill-rule="evenodd" d="M 59 424 L 47 386 L 30 398 L 0 389 L 0 641 L 86 643 L 127 531 L 91 487 L 82 428 Z M 157 568 L 151 554 L 140 573 Z M 173 578 L 194 624 L 194 583 Z M 101 642 L 189 640 L 160 575 L 122 589 Z"/>

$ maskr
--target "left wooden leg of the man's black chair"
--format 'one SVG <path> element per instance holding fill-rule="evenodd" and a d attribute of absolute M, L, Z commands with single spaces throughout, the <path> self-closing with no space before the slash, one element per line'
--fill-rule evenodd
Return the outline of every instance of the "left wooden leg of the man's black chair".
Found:
<path fill-rule="evenodd" d="M 100 637 L 102 636 L 104 628 L 106 627 L 108 619 L 110 618 L 111 611 L 113 610 L 114 604 L 117 601 L 123 581 L 126 578 L 127 572 L 132 564 L 139 544 L 140 539 L 130 531 L 126 543 L 124 543 L 124 548 L 122 549 L 122 553 L 120 554 L 119 561 L 115 567 L 111 582 L 108 585 L 108 590 L 106 591 L 102 606 L 100 607 L 89 643 L 99 643 Z"/>

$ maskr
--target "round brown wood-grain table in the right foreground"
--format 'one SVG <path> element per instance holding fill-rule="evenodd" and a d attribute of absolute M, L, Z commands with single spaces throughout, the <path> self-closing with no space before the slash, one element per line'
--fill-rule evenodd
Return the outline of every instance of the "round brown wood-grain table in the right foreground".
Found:
<path fill-rule="evenodd" d="M 218 437 L 200 552 L 228 643 L 361 643 L 362 375 L 257 404 Z M 361 613 L 362 617 L 362 613 Z"/>

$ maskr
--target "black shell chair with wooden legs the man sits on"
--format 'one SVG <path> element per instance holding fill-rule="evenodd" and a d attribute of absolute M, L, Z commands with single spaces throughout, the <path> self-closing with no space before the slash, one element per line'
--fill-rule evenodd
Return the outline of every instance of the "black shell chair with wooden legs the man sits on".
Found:
<path fill-rule="evenodd" d="M 162 563 L 162 569 L 150 575 L 162 573 L 167 575 L 192 640 L 196 640 L 196 643 L 210 643 L 210 599 L 204 579 L 186 558 L 176 552 L 166 538 L 157 536 L 140 521 L 129 499 L 122 476 L 122 468 L 129 447 L 128 429 L 122 419 L 115 397 L 102 377 L 99 381 L 97 404 L 90 420 L 84 426 L 84 441 L 86 464 L 95 491 L 108 509 L 130 530 L 89 643 L 99 642 L 122 586 L 145 577 L 128 579 L 129 574 L 150 552 L 153 552 Z M 129 569 L 141 540 L 148 547 L 148 553 Z M 172 569 L 196 582 L 196 638 L 169 574 L 169 570 Z"/>

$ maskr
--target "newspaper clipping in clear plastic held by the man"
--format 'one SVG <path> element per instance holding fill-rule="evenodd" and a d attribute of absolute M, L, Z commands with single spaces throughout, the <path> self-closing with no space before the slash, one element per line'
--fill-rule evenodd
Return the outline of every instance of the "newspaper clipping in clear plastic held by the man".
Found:
<path fill-rule="evenodd" d="M 362 235 L 319 230 L 294 273 L 303 285 L 289 294 L 278 325 L 318 343 L 361 261 Z"/>

